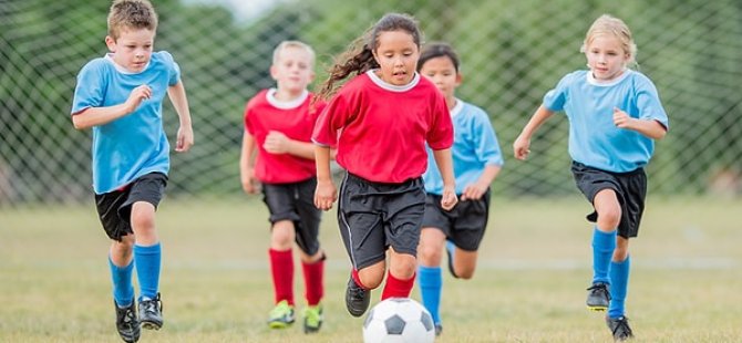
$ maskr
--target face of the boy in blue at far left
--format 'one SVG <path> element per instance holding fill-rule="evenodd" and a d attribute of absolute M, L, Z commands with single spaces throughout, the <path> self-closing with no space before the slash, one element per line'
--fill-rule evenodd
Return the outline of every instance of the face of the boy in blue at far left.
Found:
<path fill-rule="evenodd" d="M 155 32 L 147 29 L 123 28 L 118 39 L 106 35 L 105 44 L 113 53 L 113 61 L 130 72 L 140 73 L 150 63 L 155 43 Z"/>

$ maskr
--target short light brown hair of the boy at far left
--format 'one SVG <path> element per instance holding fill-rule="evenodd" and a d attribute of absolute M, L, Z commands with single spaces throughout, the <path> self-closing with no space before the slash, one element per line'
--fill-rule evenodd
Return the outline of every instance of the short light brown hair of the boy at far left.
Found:
<path fill-rule="evenodd" d="M 109 35 L 118 39 L 123 29 L 157 30 L 157 13 L 148 0 L 115 0 L 109 11 Z"/>

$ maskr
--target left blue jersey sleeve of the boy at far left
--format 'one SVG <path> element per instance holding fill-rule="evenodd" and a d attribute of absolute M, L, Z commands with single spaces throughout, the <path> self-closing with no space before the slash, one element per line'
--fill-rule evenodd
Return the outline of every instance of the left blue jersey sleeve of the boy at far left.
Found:
<path fill-rule="evenodd" d="M 78 74 L 71 114 L 90 107 L 101 107 L 105 100 L 105 62 L 96 59 L 85 64 Z"/>

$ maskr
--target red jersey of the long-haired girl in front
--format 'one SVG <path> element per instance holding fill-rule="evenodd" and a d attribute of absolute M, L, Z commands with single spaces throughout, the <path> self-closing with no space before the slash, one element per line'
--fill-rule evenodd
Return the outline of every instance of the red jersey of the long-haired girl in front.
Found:
<path fill-rule="evenodd" d="M 312 141 L 337 146 L 338 164 L 351 174 L 399 184 L 425 172 L 425 142 L 436 150 L 451 147 L 453 125 L 443 94 L 425 77 L 415 73 L 395 86 L 369 71 L 330 100 Z"/>

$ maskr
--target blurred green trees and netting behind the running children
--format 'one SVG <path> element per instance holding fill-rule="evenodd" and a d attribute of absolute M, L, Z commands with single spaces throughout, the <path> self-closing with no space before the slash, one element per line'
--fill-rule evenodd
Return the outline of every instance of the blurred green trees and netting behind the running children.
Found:
<path fill-rule="evenodd" d="M 248 0 L 249 1 L 249 0 Z M 528 163 L 512 142 L 561 75 L 585 67 L 585 32 L 600 14 L 624 19 L 639 70 L 657 85 L 670 133 L 650 163 L 650 191 L 742 193 L 742 2 L 735 0 L 307 0 L 275 1 L 249 18 L 206 1 L 153 1 L 155 50 L 169 51 L 186 85 L 196 145 L 174 154 L 168 196 L 241 194 L 237 162 L 245 102 L 274 81 L 272 49 L 298 39 L 318 53 L 317 81 L 333 58 L 385 12 L 413 14 L 425 41 L 446 41 L 462 59 L 457 96 L 485 108 L 505 167 L 495 194 L 575 195 L 567 121 L 549 121 Z M 106 52 L 109 1 L 0 1 L 0 207 L 79 202 L 92 197 L 90 132 L 70 107 L 78 71 Z M 177 116 L 165 106 L 166 131 Z"/>

